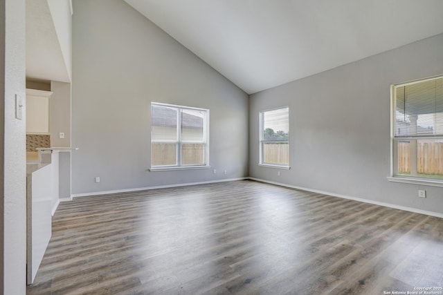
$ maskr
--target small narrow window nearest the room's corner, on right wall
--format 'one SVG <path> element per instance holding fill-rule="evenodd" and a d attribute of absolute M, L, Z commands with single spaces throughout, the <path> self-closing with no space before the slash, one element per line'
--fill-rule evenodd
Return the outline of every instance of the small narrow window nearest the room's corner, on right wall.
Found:
<path fill-rule="evenodd" d="M 260 164 L 289 169 L 289 107 L 260 112 Z"/>

